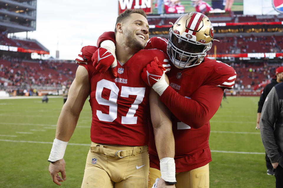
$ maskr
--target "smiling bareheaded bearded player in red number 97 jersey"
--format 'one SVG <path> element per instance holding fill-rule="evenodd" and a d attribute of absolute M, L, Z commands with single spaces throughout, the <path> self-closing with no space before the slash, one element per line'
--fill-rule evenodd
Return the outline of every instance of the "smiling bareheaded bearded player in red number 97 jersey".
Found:
<path fill-rule="evenodd" d="M 149 117 L 153 121 L 158 155 L 164 177 L 175 187 L 175 144 L 170 113 L 158 94 L 140 77 L 142 69 L 157 56 L 162 63 L 155 68 L 163 74 L 168 60 L 157 49 L 143 50 L 148 40 L 148 22 L 142 10 L 127 9 L 116 21 L 116 77 L 111 69 L 98 71 L 92 56 L 103 60 L 111 54 L 96 46 L 85 46 L 76 59 L 79 67 L 60 113 L 56 136 L 48 161 L 54 183 L 66 180 L 64 153 L 88 95 L 92 110 L 91 147 L 88 152 L 82 187 L 148 187 Z M 155 61 L 158 61 L 155 58 Z M 154 62 L 155 63 L 155 62 Z M 158 76 L 151 75 L 153 79 Z M 149 110 L 149 108 L 151 110 Z M 168 112 L 167 112 L 168 111 Z M 150 112 L 150 113 L 149 113 Z M 160 147 L 159 147 L 160 146 Z M 62 177 L 59 176 L 61 172 Z"/>

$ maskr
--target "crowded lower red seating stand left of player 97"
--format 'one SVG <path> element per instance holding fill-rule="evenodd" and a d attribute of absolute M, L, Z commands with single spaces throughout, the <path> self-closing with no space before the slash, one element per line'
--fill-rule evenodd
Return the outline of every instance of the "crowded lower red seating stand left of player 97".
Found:
<path fill-rule="evenodd" d="M 70 85 L 75 78 L 76 63 L 62 61 L 27 61 L 18 58 L 0 59 L 0 78 L 10 80 L 9 88 L 37 88 Z M 4 83 L 2 80 L 1 83 Z M 1 84 L 2 86 L 2 84 Z"/>

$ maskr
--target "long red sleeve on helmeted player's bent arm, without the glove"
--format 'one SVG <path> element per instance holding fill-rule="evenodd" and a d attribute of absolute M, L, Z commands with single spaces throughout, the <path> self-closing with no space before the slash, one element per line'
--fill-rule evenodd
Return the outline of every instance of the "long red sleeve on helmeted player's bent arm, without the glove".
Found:
<path fill-rule="evenodd" d="M 160 100 L 182 122 L 192 128 L 200 128 L 207 123 L 218 110 L 223 97 L 223 89 L 213 85 L 203 85 L 191 98 L 167 87 Z"/>

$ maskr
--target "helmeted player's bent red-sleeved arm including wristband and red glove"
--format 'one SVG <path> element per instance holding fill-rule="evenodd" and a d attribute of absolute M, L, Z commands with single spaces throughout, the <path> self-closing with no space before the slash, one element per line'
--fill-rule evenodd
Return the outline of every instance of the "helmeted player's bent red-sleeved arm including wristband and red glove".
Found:
<path fill-rule="evenodd" d="M 191 99 L 183 97 L 168 85 L 162 66 L 156 62 L 154 59 L 143 69 L 141 78 L 144 82 L 152 86 L 160 100 L 179 120 L 195 129 L 205 125 L 218 110 L 224 88 L 203 85 L 194 92 Z"/>

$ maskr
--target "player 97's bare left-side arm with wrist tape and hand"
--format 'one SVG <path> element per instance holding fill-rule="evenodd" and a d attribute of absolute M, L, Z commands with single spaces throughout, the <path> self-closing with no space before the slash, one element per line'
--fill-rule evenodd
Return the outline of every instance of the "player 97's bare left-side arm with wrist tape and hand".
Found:
<path fill-rule="evenodd" d="M 48 161 L 49 172 L 55 184 L 66 180 L 65 160 L 63 159 L 65 149 L 78 122 L 80 112 L 86 98 L 89 95 L 90 84 L 88 71 L 83 66 L 78 66 L 75 80 L 70 86 L 68 99 L 63 105 L 57 122 L 56 135 Z M 59 176 L 61 172 L 62 178 Z"/>

